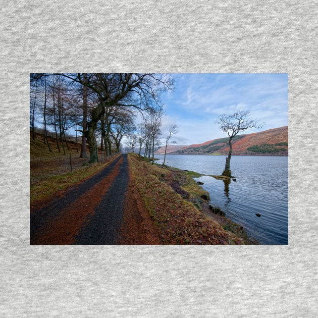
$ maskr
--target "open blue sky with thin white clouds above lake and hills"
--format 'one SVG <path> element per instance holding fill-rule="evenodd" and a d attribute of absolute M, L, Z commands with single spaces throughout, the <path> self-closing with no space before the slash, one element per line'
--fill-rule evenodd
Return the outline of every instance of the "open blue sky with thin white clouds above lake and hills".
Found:
<path fill-rule="evenodd" d="M 163 136 L 176 124 L 173 136 L 178 145 L 202 143 L 227 137 L 215 120 L 221 114 L 250 111 L 250 117 L 264 122 L 261 129 L 288 125 L 288 74 L 172 74 L 175 88 L 162 94 L 165 116 Z M 164 140 L 164 139 L 163 139 Z"/>

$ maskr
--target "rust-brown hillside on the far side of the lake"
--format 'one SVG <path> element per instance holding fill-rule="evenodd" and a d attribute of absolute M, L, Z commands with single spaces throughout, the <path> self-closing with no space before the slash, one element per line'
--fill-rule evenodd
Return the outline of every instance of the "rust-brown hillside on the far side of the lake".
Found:
<path fill-rule="evenodd" d="M 172 154 L 227 154 L 229 152 L 228 137 L 205 141 L 201 144 L 179 146 L 181 148 L 169 151 Z M 252 134 L 242 134 L 234 137 L 233 155 L 288 155 L 288 126 L 260 131 Z M 173 147 L 173 146 L 172 146 Z M 176 147 L 176 146 L 174 146 Z M 182 148 L 183 147 L 183 148 Z M 156 153 L 165 153 L 161 147 Z"/>

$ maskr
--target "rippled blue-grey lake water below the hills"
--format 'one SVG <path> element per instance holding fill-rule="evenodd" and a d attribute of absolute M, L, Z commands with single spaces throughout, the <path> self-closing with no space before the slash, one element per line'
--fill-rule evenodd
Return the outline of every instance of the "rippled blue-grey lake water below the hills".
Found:
<path fill-rule="evenodd" d="M 156 163 L 162 164 L 164 155 Z M 223 155 L 167 154 L 166 165 L 206 175 L 220 175 Z M 210 194 L 210 203 L 244 227 L 261 244 L 288 244 L 288 156 L 232 156 L 230 184 L 213 177 L 196 178 Z M 260 214 L 257 217 L 256 214 Z"/>

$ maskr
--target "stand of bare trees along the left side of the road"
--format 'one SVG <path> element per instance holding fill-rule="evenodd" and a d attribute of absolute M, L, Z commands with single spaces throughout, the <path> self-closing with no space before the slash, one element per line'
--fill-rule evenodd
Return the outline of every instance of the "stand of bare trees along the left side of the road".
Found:
<path fill-rule="evenodd" d="M 153 160 L 164 114 L 160 95 L 173 86 L 168 74 L 32 73 L 31 136 L 42 128 L 51 151 L 47 137 L 54 134 L 64 154 L 66 136 L 80 137 L 80 157 L 89 157 L 90 163 L 98 161 L 97 146 L 111 156 L 120 152 L 125 137 L 133 152 L 140 155 L 143 148 L 144 156 Z"/>

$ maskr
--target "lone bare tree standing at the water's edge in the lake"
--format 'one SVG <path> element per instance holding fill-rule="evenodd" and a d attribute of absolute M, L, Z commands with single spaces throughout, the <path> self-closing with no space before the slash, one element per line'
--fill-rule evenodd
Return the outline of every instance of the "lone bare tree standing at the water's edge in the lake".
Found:
<path fill-rule="evenodd" d="M 229 154 L 226 157 L 225 169 L 222 173 L 223 176 L 231 177 L 230 163 L 232 156 L 232 139 L 241 131 L 244 132 L 250 128 L 261 128 L 264 123 L 259 124 L 258 120 L 250 118 L 249 111 L 239 111 L 232 115 L 222 114 L 215 121 L 220 125 L 222 131 L 226 132 L 229 136 Z"/>

